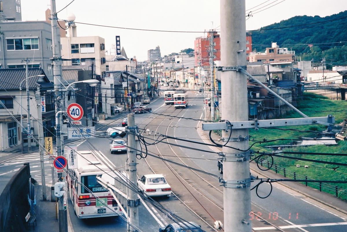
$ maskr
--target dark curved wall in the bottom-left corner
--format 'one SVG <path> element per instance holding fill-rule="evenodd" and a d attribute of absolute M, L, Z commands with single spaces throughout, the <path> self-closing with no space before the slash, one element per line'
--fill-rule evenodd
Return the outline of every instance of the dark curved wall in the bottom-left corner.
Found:
<path fill-rule="evenodd" d="M 29 206 L 27 201 L 27 194 L 29 193 L 29 178 L 30 166 L 29 163 L 24 163 L 24 165 L 12 176 L 10 181 L 6 184 L 0 195 L 0 231 L 20 231 L 24 229 L 25 226 L 23 222 L 25 221 L 25 215 L 28 210 L 17 210 L 18 208 L 23 208 Z M 25 194 L 23 194 L 25 192 Z M 22 195 L 20 195 L 22 193 Z M 28 207 L 29 208 L 29 207 Z M 16 212 L 17 216 L 11 215 L 11 213 Z M 16 221 L 16 225 L 9 225 L 9 221 Z M 10 226 L 16 226 L 10 229 Z"/>

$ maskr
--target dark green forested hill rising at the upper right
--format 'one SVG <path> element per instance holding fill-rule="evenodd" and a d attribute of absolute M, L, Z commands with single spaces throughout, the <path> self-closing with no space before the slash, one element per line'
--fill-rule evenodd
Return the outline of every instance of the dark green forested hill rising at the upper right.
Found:
<path fill-rule="evenodd" d="M 331 62 L 343 62 L 347 43 L 333 42 L 347 41 L 346 25 L 347 10 L 323 18 L 320 16 L 295 16 L 261 28 L 265 30 L 250 31 L 252 49 L 262 52 L 269 47 L 271 42 L 277 42 L 280 47 L 292 48 L 297 55 L 306 55 L 307 59 L 318 59 L 319 56 L 338 52 L 335 55 L 337 57 L 331 58 Z M 329 44 L 327 44 L 328 42 Z M 314 47 L 310 49 L 307 44 L 314 44 Z M 316 54 L 314 55 L 314 53 Z"/>

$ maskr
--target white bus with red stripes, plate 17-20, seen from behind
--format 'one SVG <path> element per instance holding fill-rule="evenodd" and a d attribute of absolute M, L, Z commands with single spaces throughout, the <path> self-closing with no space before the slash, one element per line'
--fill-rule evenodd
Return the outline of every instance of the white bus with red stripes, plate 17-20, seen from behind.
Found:
<path fill-rule="evenodd" d="M 107 217 L 122 214 L 122 210 L 111 193 L 96 181 L 97 176 L 102 179 L 111 178 L 105 174 L 105 172 L 111 170 L 103 165 L 104 162 L 110 162 L 108 158 L 100 151 L 96 153 L 98 156 L 92 154 L 91 151 L 78 151 L 77 154 L 78 168 L 70 169 L 69 172 L 78 182 L 70 175 L 67 175 L 68 191 L 77 217 Z M 79 183 L 82 183 L 85 187 Z M 93 195 L 88 190 L 93 192 Z"/>

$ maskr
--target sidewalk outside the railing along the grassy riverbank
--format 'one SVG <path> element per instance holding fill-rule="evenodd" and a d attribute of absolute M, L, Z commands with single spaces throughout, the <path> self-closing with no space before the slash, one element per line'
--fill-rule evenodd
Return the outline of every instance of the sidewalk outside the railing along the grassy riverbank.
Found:
<path fill-rule="evenodd" d="M 206 141 L 210 143 L 208 132 L 202 131 L 200 128 L 200 134 L 205 136 Z M 220 137 L 212 132 L 212 138 L 214 140 L 220 139 Z M 217 147 L 216 147 L 217 148 Z M 222 148 L 217 148 L 219 151 L 222 151 Z M 259 178 L 271 178 L 271 179 L 289 179 L 283 177 L 283 175 L 276 174 L 276 172 L 272 170 L 268 171 L 262 171 L 260 170 L 256 163 L 250 163 L 250 169 L 253 174 L 256 176 L 258 175 Z M 311 177 L 312 178 L 312 177 Z M 301 184 L 299 182 L 277 182 L 281 184 L 284 187 L 287 187 L 293 191 L 296 191 L 308 198 L 311 198 L 313 200 L 318 201 L 321 204 L 327 205 L 333 209 L 338 210 L 341 213 L 347 214 L 347 202 L 344 200 L 341 200 L 340 198 L 337 198 L 335 195 L 328 194 L 326 192 L 320 192 L 318 189 L 314 189 L 311 187 L 306 187 L 304 184 Z"/>

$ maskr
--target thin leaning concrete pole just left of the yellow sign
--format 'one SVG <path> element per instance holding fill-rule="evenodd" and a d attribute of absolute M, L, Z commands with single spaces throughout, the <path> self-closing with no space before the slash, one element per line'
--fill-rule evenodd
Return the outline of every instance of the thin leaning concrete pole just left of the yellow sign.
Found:
<path fill-rule="evenodd" d="M 39 128 L 39 143 L 41 145 L 44 144 L 43 141 L 43 124 L 42 124 L 42 105 L 41 105 L 41 96 L 40 96 L 40 87 L 37 87 L 37 91 L 35 92 L 36 96 L 36 106 L 37 106 L 37 128 Z M 46 196 L 46 180 L 44 174 L 44 163 L 43 163 L 43 148 L 39 146 L 40 149 L 40 164 L 41 164 L 41 183 L 42 183 L 42 200 L 47 200 Z"/>

